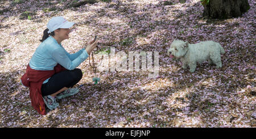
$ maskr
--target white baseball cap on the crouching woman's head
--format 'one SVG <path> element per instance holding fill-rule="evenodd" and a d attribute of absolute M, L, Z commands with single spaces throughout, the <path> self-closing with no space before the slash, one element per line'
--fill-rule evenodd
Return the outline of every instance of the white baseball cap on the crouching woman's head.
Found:
<path fill-rule="evenodd" d="M 74 25 L 73 22 L 68 22 L 66 19 L 64 19 L 62 16 L 53 17 L 49 22 L 47 23 L 48 33 L 51 33 L 52 31 L 57 30 L 58 28 L 70 28 Z"/>

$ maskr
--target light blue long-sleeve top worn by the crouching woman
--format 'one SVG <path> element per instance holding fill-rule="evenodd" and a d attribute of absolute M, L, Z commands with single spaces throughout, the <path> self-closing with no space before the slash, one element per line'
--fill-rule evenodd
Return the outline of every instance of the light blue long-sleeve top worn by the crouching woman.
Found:
<path fill-rule="evenodd" d="M 52 36 L 49 36 L 36 48 L 29 65 L 34 70 L 53 70 L 57 64 L 60 64 L 65 69 L 73 70 L 88 56 L 84 48 L 76 53 L 69 54 L 61 44 L 57 43 Z M 47 83 L 48 80 L 49 78 L 43 83 Z"/>

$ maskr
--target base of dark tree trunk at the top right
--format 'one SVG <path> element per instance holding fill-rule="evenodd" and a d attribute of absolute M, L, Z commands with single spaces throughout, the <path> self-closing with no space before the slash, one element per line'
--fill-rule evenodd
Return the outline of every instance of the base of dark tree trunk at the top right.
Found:
<path fill-rule="evenodd" d="M 210 0 L 204 5 L 203 16 L 212 19 L 228 19 L 241 16 L 249 9 L 248 0 Z"/>

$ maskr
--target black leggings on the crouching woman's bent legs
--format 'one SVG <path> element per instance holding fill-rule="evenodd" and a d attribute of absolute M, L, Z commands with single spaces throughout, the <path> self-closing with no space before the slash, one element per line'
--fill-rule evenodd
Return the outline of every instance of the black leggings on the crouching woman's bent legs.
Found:
<path fill-rule="evenodd" d="M 65 70 L 56 73 L 49 78 L 47 83 L 42 85 L 42 96 L 51 95 L 63 87 L 73 87 L 82 78 L 82 71 L 80 69 Z"/>

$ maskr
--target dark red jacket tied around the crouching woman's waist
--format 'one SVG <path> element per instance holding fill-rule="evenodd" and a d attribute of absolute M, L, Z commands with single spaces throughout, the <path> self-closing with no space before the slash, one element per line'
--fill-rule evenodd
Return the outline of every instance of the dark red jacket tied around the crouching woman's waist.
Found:
<path fill-rule="evenodd" d="M 27 65 L 26 73 L 22 76 L 21 81 L 24 86 L 30 87 L 31 104 L 41 115 L 46 114 L 46 107 L 42 97 L 41 87 L 43 82 L 52 77 L 55 73 L 67 70 L 60 64 L 57 64 L 53 70 L 34 70 Z"/>

